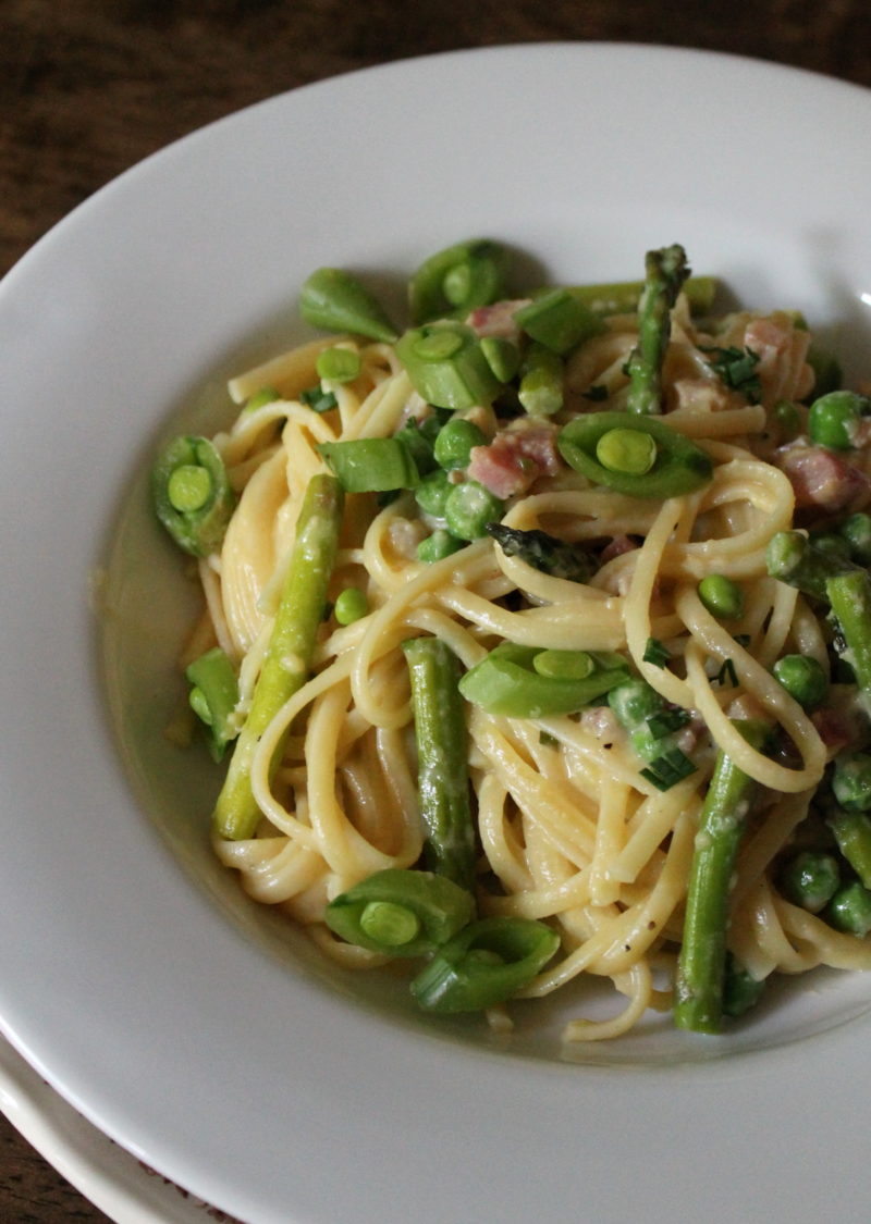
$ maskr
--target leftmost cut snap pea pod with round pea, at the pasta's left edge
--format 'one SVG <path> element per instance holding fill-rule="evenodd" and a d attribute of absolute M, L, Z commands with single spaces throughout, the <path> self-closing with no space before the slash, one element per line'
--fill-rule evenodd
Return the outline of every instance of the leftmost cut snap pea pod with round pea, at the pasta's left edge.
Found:
<path fill-rule="evenodd" d="M 236 497 L 208 438 L 170 442 L 152 468 L 151 492 L 158 519 L 180 548 L 195 557 L 217 552 Z"/>

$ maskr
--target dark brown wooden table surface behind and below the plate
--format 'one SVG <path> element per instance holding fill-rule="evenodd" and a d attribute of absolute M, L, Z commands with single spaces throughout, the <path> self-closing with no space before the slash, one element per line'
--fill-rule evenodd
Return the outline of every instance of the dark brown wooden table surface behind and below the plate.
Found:
<path fill-rule="evenodd" d="M 120 171 L 250 103 L 412 55 L 566 39 L 871 87 L 867 0 L 0 0 L 0 274 Z M 0 1224 L 105 1219 L 0 1115 Z"/>

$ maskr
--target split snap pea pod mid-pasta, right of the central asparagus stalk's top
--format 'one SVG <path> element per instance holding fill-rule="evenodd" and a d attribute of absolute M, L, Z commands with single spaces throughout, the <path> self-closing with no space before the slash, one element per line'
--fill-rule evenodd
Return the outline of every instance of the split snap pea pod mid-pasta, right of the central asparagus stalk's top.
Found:
<path fill-rule="evenodd" d="M 597 666 L 586 677 L 541 676 L 534 646 L 503 643 L 463 676 L 459 692 L 489 714 L 508 718 L 548 718 L 575 714 L 626 681 L 627 663 Z"/>

